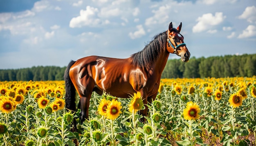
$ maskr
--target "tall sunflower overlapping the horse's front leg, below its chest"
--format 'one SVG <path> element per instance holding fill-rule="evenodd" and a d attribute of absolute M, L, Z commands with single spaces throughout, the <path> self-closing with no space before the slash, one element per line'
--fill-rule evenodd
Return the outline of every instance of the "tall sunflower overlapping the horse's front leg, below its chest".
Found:
<path fill-rule="evenodd" d="M 131 98 L 132 100 L 128 105 L 129 106 L 128 110 L 130 113 L 132 113 L 133 110 L 136 113 L 137 111 L 141 110 L 144 104 L 143 101 L 141 100 L 141 93 L 140 92 L 134 93 L 134 95 Z"/>

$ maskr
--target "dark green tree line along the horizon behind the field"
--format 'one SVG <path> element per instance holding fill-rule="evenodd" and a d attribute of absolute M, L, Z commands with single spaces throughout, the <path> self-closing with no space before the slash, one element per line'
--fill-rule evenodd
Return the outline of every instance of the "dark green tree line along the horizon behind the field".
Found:
<path fill-rule="evenodd" d="M 33 66 L 25 69 L 0 69 L 0 81 L 64 80 L 66 66 Z M 209 58 L 168 60 L 162 78 L 252 77 L 256 75 L 256 54 L 225 55 Z"/>

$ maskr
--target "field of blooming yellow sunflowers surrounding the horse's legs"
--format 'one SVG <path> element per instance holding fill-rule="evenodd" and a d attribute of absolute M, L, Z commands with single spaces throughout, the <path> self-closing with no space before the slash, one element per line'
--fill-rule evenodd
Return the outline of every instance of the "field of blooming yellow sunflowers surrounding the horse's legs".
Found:
<path fill-rule="evenodd" d="M 93 93 L 81 123 L 64 81 L 0 82 L 0 146 L 255 146 L 256 76 L 162 79 L 158 92 L 148 105 Z"/>

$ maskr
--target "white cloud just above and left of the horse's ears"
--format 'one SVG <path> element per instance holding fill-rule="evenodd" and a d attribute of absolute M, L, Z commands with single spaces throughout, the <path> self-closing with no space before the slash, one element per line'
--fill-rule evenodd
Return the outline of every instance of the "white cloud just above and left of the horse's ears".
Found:
<path fill-rule="evenodd" d="M 168 9 L 170 9 L 170 6 L 166 4 L 165 6 L 159 7 L 158 10 L 153 10 L 154 15 L 146 19 L 145 25 L 150 26 L 152 24 L 162 24 L 169 21 L 168 13 L 166 13 Z"/>

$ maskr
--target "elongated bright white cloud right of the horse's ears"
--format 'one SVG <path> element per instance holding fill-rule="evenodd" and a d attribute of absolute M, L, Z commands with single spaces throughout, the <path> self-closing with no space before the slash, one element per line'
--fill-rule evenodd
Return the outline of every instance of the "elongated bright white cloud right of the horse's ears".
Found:
<path fill-rule="evenodd" d="M 196 20 L 198 23 L 193 27 L 192 31 L 193 33 L 206 31 L 223 22 L 225 18 L 226 16 L 222 12 L 216 12 L 215 15 L 212 13 L 203 14 L 202 17 Z"/>

